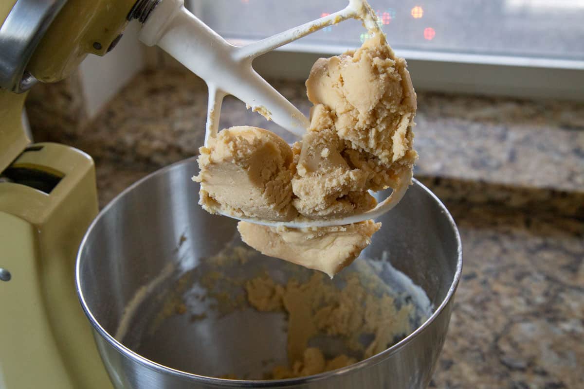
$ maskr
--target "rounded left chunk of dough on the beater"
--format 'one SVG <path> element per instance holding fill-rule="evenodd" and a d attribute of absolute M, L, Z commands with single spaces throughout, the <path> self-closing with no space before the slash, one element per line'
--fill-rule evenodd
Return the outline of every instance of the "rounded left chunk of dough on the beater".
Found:
<path fill-rule="evenodd" d="M 291 220 L 290 146 L 271 131 L 231 127 L 200 148 L 199 204 L 210 213 Z"/>

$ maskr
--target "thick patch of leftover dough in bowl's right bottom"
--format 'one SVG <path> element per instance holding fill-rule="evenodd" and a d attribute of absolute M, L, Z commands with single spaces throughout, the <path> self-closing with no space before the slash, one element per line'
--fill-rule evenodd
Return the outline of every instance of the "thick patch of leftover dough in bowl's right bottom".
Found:
<path fill-rule="evenodd" d="M 321 334 L 343 339 L 347 348 L 366 359 L 387 349 L 400 335 L 412 332 L 413 305 L 402 303 L 398 309 L 394 297 L 376 290 L 383 288 L 377 275 L 364 272 L 361 277 L 355 273 L 346 275 L 345 286 L 340 290 L 325 282 L 319 273 L 304 283 L 290 280 L 280 285 L 267 274 L 246 282 L 252 307 L 264 312 L 284 310 L 288 314 L 289 365 L 274 367 L 270 379 L 310 376 L 357 362 L 343 353 L 326 359 L 321 349 L 309 345 Z M 371 284 L 370 288 L 363 282 Z M 363 344 L 368 336 L 372 340 Z"/>

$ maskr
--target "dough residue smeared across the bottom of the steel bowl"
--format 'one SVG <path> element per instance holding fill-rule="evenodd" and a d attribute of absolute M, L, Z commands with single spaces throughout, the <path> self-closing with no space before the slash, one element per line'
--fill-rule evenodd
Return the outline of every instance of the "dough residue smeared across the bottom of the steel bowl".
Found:
<path fill-rule="evenodd" d="M 284 313 L 286 345 L 284 349 L 274 346 L 273 351 L 263 349 L 261 365 L 238 370 L 241 375 L 232 374 L 233 363 L 225 369 L 220 364 L 213 372 L 191 373 L 225 379 L 286 379 L 339 369 L 383 352 L 432 313 L 426 295 L 420 297 L 397 281 L 407 278 L 405 275 L 381 265 L 383 256 L 353 264 L 334 280 L 293 265 L 274 269 L 257 251 L 241 246 L 238 237 L 217 254 L 200 260 L 199 266 L 185 274 L 179 272 L 178 279 L 171 267 L 163 278 L 138 290 L 124 310 L 116 339 L 124 340 L 136 309 L 145 301 L 160 309 L 144 328 L 149 334 L 164 331 L 159 326 L 176 315 L 186 315 L 193 325 L 207 322 L 201 324 L 206 327 L 249 309 Z M 160 295 L 155 286 L 170 281 L 170 276 L 172 287 Z M 266 320 L 274 320 L 274 316 L 266 315 Z M 194 332 L 206 336 L 205 331 Z"/>

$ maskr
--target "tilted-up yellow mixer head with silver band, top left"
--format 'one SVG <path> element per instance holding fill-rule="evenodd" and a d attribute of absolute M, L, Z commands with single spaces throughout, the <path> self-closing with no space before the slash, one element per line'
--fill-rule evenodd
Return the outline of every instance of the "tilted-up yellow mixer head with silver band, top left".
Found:
<path fill-rule="evenodd" d="M 37 82 L 67 77 L 88 54 L 105 55 L 128 21 L 159 0 L 0 2 L 0 173 L 30 143 L 20 117 Z"/>

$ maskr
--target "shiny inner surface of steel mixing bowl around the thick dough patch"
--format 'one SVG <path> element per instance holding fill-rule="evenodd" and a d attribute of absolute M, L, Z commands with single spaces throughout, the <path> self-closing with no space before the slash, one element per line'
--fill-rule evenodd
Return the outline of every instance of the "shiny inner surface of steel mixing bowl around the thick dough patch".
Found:
<path fill-rule="evenodd" d="M 204 376 L 262 379 L 273 366 L 287 365 L 287 314 L 249 306 L 246 282 L 269 274 L 281 285 L 303 283 L 315 272 L 246 247 L 235 220 L 197 205 L 199 187 L 190 180 L 196 173 L 194 159 L 160 170 L 100 213 L 79 253 L 82 300 L 94 325 L 153 362 Z M 360 258 L 332 281 L 318 282 L 338 293 L 335 304 L 352 276 L 366 280 L 370 293 L 395 297 L 398 310 L 412 303 L 413 331 L 454 282 L 456 227 L 419 183 L 379 221 L 382 229 Z M 325 356 L 363 358 L 363 350 L 336 335 L 321 334 L 310 345 Z"/>

